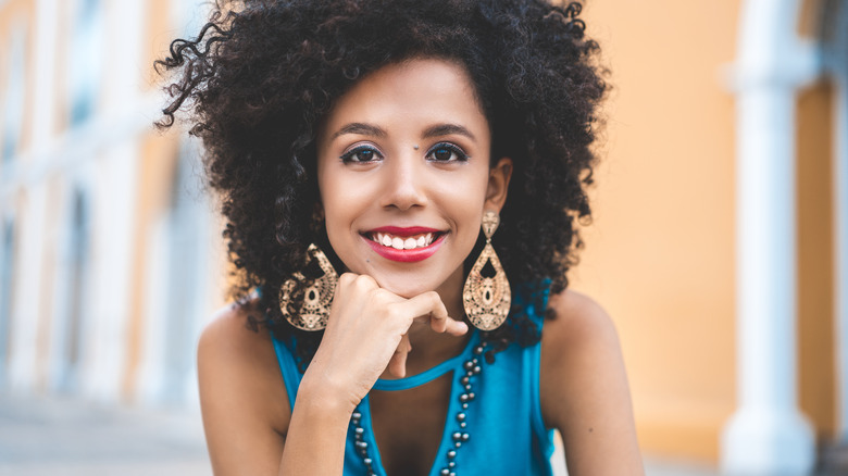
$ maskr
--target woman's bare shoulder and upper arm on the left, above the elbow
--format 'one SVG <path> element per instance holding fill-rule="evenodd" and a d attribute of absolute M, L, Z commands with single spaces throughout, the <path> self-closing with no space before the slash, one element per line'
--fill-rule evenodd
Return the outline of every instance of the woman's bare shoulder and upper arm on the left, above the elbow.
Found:
<path fill-rule="evenodd" d="M 274 346 L 251 328 L 252 304 L 215 313 L 198 343 L 198 384 L 215 474 L 271 474 L 278 467 L 290 419 Z"/>

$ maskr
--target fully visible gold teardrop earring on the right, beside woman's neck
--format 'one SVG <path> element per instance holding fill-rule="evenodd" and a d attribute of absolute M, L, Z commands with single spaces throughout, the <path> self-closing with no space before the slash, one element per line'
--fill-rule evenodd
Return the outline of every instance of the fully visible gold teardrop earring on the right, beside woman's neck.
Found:
<path fill-rule="evenodd" d="M 491 236 L 498 229 L 500 216 L 495 212 L 483 215 L 483 234 L 486 235 L 486 246 L 474 262 L 474 266 L 462 288 L 462 304 L 465 314 L 474 327 L 481 330 L 492 330 L 500 327 L 510 312 L 512 291 L 507 273 L 500 265 L 500 260 L 491 247 Z M 487 264 L 489 266 L 487 266 Z M 484 274 L 485 273 L 485 274 Z"/>

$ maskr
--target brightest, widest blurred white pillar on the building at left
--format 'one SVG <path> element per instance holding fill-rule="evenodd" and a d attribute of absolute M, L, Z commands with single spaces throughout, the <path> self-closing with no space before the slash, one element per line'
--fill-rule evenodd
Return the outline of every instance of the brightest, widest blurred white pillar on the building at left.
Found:
<path fill-rule="evenodd" d="M 103 58 L 113 59 L 104 68 L 101 117 L 145 115 L 140 83 L 145 66 L 142 41 L 147 17 L 142 1 L 122 0 L 104 3 L 103 38 L 119 41 L 100 45 Z M 130 286 L 135 248 L 136 191 L 140 158 L 139 130 L 101 123 L 93 134 L 117 137 L 96 158 L 95 192 L 95 288 L 92 328 L 95 341 L 87 349 L 85 392 L 98 400 L 121 398 L 126 371 L 127 334 L 130 315 Z M 152 126 L 151 126 L 152 127 Z"/>

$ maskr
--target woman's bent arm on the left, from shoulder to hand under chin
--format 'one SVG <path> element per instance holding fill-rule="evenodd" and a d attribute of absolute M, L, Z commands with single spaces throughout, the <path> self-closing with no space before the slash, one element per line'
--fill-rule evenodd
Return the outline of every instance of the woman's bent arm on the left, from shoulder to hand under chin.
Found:
<path fill-rule="evenodd" d="M 350 416 L 388 367 L 406 372 L 413 321 L 462 335 L 435 292 L 403 299 L 367 276 L 339 279 L 321 346 L 292 411 L 267 333 L 229 308 L 198 346 L 203 426 L 215 475 L 341 475 Z"/>

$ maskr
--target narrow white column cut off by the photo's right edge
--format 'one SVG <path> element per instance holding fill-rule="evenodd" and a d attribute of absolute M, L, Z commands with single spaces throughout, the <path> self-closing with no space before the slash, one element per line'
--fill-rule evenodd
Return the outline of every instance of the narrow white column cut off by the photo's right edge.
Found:
<path fill-rule="evenodd" d="M 848 4 L 838 5 L 837 33 L 830 59 L 834 76 L 834 191 L 836 222 L 837 437 L 848 442 Z"/>

